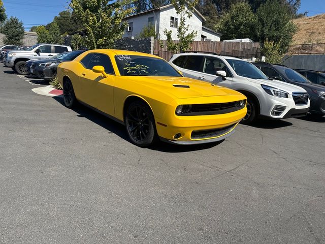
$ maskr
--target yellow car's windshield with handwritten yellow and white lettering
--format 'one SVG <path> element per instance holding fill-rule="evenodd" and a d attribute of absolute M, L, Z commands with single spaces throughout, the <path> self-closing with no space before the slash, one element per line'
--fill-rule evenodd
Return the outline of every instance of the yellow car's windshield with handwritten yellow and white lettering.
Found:
<path fill-rule="evenodd" d="M 141 55 L 115 55 L 117 68 L 123 76 L 181 75 L 164 59 Z"/>

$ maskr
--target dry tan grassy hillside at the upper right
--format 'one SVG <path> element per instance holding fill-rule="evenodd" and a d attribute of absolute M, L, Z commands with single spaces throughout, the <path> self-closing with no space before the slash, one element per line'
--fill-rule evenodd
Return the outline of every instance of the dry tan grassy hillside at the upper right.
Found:
<path fill-rule="evenodd" d="M 298 32 L 293 44 L 325 43 L 325 14 L 295 19 Z"/>

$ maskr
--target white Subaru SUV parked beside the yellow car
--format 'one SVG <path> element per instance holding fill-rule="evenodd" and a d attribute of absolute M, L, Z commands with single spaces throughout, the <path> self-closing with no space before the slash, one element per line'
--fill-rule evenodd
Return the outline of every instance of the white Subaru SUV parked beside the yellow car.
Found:
<path fill-rule="evenodd" d="M 306 91 L 299 86 L 270 80 L 240 58 L 212 53 L 178 53 L 169 61 L 184 76 L 229 87 L 247 97 L 243 124 L 257 117 L 282 119 L 305 116 L 309 109 Z"/>

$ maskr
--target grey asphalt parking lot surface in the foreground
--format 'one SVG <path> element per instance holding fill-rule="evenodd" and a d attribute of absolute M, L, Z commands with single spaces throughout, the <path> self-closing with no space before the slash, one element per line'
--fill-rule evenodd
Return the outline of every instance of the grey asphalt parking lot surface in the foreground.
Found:
<path fill-rule="evenodd" d="M 0 67 L 0 243 L 325 243 L 325 117 L 139 148 Z"/>

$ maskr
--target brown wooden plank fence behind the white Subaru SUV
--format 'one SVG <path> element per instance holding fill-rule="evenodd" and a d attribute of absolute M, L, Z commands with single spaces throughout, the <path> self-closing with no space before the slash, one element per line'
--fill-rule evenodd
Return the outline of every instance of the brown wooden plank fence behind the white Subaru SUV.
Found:
<path fill-rule="evenodd" d="M 160 47 L 159 40 L 154 40 L 154 54 L 169 60 L 174 53 L 167 51 L 166 40 L 161 41 L 164 47 Z M 175 41 L 177 43 L 178 41 Z M 258 42 L 211 42 L 194 41 L 189 51 L 213 52 L 220 55 L 237 56 L 241 58 L 259 57 L 261 55 Z"/>

